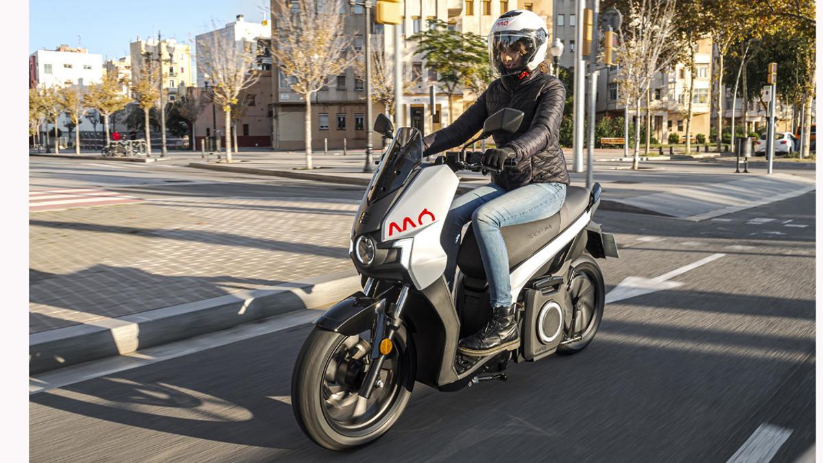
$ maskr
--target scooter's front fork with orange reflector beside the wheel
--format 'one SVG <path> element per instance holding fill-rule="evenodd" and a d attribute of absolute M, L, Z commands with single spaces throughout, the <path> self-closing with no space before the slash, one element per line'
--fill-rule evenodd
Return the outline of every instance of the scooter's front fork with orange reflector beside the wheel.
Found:
<path fill-rule="evenodd" d="M 374 286 L 376 286 L 374 278 L 369 278 L 366 280 L 365 287 L 363 288 L 363 292 L 365 292 L 366 296 L 373 296 L 372 292 L 374 292 Z M 400 329 L 400 325 L 402 325 L 402 319 L 400 316 L 402 314 L 403 307 L 406 306 L 408 292 L 409 287 L 407 285 L 403 285 L 403 288 L 400 290 L 398 302 L 394 304 L 387 304 L 385 311 L 379 311 L 377 313 L 377 320 L 375 320 L 374 323 L 374 336 L 371 342 L 371 366 L 369 367 L 369 371 L 366 373 L 363 385 L 360 386 L 360 391 L 357 393 L 359 397 L 355 415 L 358 414 L 357 411 L 361 407 L 363 408 L 362 411 L 365 412 L 365 402 L 370 399 L 371 393 L 374 391 L 375 383 L 377 382 L 377 377 L 380 374 L 380 368 L 383 367 L 383 362 L 386 360 L 388 354 L 391 353 L 391 350 L 388 351 L 388 353 L 381 353 L 380 344 L 384 339 L 388 339 L 391 342 L 394 334 Z M 392 350 L 393 349 L 394 348 L 392 348 Z"/>

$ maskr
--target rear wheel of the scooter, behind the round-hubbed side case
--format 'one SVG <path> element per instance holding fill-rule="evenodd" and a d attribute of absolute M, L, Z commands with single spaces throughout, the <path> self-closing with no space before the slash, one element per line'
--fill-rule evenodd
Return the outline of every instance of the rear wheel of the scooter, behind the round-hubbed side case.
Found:
<path fill-rule="evenodd" d="M 570 297 L 578 311 L 574 320 L 574 337 L 580 336 L 581 339 L 570 344 L 560 344 L 557 353 L 564 355 L 579 353 L 592 342 L 603 318 L 606 297 L 603 274 L 592 256 L 581 255 L 572 266 L 574 276 L 571 279 Z"/>

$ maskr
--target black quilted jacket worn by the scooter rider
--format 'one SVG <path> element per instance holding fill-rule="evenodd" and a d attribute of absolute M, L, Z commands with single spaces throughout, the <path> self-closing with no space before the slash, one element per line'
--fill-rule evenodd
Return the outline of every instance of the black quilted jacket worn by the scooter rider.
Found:
<path fill-rule="evenodd" d="M 492 180 L 512 190 L 530 183 L 560 182 L 569 185 L 569 172 L 560 149 L 560 120 L 563 119 L 565 87 L 560 79 L 545 72 L 518 79 L 501 77 L 491 82 L 480 98 L 445 129 L 423 139 L 425 156 L 444 152 L 466 143 L 483 128 L 490 115 L 503 108 L 523 111 L 523 123 L 516 133 L 492 134 L 498 147 L 510 147 L 517 165 Z"/>

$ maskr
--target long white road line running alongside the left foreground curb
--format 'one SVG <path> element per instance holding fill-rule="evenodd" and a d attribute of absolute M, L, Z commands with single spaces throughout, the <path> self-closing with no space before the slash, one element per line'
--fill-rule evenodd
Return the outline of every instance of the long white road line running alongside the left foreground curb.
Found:
<path fill-rule="evenodd" d="M 293 311 L 278 316 L 272 316 L 262 323 L 238 325 L 229 330 L 216 333 L 202 334 L 190 339 L 175 343 L 145 348 L 141 351 L 120 355 L 119 357 L 104 358 L 93 362 L 81 363 L 76 366 L 63 367 L 51 372 L 29 376 L 29 394 L 49 391 L 57 387 L 68 386 L 80 381 L 94 379 L 100 376 L 124 372 L 137 367 L 163 362 L 170 358 L 178 358 L 190 353 L 200 352 L 207 348 L 219 347 L 235 343 L 243 339 L 250 339 L 263 334 L 287 330 L 294 326 L 305 325 L 317 319 L 323 311 Z"/>

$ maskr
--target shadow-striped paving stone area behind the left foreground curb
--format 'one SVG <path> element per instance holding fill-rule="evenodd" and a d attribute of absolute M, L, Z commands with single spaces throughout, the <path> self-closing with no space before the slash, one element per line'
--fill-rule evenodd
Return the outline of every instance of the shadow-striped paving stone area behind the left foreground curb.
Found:
<path fill-rule="evenodd" d="M 29 333 L 348 269 L 356 209 L 178 197 L 32 214 Z"/>

